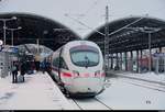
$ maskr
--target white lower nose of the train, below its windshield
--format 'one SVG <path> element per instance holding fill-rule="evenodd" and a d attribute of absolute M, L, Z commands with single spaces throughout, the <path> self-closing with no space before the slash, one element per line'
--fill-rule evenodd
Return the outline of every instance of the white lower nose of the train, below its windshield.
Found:
<path fill-rule="evenodd" d="M 94 93 L 97 94 L 103 89 L 102 76 L 95 76 L 95 72 L 90 74 L 74 74 L 73 78 L 73 93 Z"/>

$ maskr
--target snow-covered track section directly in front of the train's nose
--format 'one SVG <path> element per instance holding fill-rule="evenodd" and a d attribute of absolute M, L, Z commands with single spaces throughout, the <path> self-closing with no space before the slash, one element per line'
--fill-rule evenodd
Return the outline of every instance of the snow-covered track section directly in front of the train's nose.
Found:
<path fill-rule="evenodd" d="M 112 110 L 110 107 L 108 107 L 106 103 L 100 101 L 97 98 L 90 98 L 90 99 L 69 99 L 70 103 L 74 104 L 74 107 L 77 110 Z"/>

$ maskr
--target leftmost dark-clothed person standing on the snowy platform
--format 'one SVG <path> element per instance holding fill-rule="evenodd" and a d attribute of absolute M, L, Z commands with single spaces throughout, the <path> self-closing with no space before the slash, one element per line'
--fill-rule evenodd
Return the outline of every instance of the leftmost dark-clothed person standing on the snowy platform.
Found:
<path fill-rule="evenodd" d="M 12 83 L 18 82 L 18 71 L 19 71 L 19 65 L 16 61 L 13 63 L 13 66 L 11 68 L 12 72 Z"/>

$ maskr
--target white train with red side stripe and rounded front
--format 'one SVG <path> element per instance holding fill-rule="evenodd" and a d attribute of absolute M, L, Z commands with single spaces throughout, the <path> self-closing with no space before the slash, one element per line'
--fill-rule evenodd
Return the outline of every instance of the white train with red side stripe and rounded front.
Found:
<path fill-rule="evenodd" d="M 67 43 L 53 54 L 51 75 L 69 96 L 101 93 L 106 74 L 99 46 L 89 41 Z"/>

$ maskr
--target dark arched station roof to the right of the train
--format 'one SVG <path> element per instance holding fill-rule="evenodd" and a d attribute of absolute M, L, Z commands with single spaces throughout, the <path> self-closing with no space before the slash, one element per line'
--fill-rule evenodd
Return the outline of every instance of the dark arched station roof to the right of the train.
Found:
<path fill-rule="evenodd" d="M 160 19 L 131 16 L 110 22 L 108 26 L 110 53 L 147 49 L 150 32 L 152 48 L 165 46 L 165 21 Z M 105 34 L 105 25 L 97 31 Z M 86 40 L 96 42 L 103 52 L 105 35 L 94 31 Z"/>

